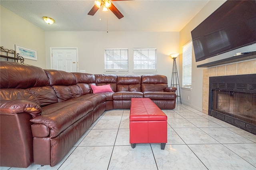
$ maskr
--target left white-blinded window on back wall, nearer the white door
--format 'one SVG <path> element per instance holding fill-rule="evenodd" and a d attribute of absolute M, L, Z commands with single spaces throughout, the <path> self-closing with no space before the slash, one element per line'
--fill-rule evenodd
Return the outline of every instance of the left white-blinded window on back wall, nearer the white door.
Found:
<path fill-rule="evenodd" d="M 128 71 L 128 48 L 105 48 L 105 71 Z"/>

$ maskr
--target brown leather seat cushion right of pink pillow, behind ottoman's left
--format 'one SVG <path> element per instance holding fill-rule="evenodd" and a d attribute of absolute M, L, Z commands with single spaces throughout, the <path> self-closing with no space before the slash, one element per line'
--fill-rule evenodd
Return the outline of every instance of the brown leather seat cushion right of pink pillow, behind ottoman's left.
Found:
<path fill-rule="evenodd" d="M 142 92 L 129 92 L 129 91 L 119 91 L 113 94 L 114 100 L 131 100 L 132 98 L 142 98 Z"/>

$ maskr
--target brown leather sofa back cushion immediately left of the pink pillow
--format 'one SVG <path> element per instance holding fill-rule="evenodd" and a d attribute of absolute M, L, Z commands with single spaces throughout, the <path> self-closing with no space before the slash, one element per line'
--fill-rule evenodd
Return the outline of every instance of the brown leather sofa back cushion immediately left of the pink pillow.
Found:
<path fill-rule="evenodd" d="M 76 84 L 80 87 L 82 95 L 92 93 L 91 84 L 95 85 L 95 76 L 88 73 L 73 73 L 76 77 Z"/>

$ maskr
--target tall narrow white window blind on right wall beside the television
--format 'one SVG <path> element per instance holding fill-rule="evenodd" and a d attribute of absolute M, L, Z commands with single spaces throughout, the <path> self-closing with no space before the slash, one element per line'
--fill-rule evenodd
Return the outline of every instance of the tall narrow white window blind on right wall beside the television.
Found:
<path fill-rule="evenodd" d="M 182 87 L 191 88 L 192 81 L 192 41 L 182 46 Z"/>

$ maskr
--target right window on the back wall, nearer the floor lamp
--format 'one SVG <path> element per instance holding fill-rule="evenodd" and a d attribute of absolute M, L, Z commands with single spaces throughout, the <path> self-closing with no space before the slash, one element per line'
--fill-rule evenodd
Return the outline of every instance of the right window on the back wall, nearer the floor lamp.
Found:
<path fill-rule="evenodd" d="M 133 70 L 156 71 L 156 48 L 134 48 Z"/>

